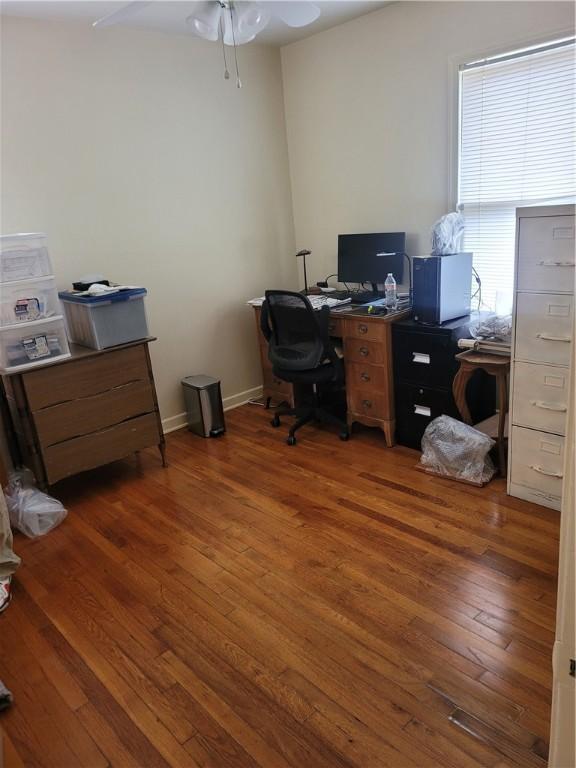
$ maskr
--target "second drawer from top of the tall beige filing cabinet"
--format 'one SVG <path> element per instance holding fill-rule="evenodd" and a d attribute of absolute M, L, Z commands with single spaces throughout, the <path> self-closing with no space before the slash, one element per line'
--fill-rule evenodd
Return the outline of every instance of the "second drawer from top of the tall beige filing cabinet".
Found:
<path fill-rule="evenodd" d="M 516 300 L 516 359 L 568 366 L 573 312 L 573 296 L 519 293 Z"/>

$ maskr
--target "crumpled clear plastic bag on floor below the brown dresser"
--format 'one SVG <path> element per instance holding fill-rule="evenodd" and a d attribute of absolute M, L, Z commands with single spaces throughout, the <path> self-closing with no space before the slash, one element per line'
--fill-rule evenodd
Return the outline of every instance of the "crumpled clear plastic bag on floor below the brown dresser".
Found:
<path fill-rule="evenodd" d="M 29 469 L 10 475 L 5 496 L 10 524 L 30 539 L 44 536 L 68 514 L 57 499 L 34 486 L 34 476 Z"/>

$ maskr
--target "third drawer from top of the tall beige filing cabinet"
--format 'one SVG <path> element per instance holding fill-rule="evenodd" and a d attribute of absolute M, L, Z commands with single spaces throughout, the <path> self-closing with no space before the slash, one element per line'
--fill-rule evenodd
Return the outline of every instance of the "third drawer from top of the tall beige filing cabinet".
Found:
<path fill-rule="evenodd" d="M 565 434 L 569 370 L 537 363 L 515 363 L 513 423 Z"/>

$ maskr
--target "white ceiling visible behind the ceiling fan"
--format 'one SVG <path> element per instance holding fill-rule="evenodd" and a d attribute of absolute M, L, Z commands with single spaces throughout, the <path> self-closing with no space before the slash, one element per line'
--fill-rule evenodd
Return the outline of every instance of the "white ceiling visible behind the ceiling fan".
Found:
<path fill-rule="evenodd" d="M 302 2 L 302 0 L 294 0 L 294 2 Z M 84 20 L 89 25 L 126 4 L 122 1 L 109 2 L 109 0 L 2 0 L 0 10 L 7 16 Z M 320 18 L 313 24 L 292 29 L 279 19 L 272 18 L 266 29 L 258 35 L 257 41 L 267 45 L 286 45 L 357 16 L 363 16 L 390 3 L 379 0 L 320 0 L 315 4 L 321 9 L 321 13 Z M 139 9 L 129 21 L 123 21 L 122 26 L 147 27 L 190 35 L 186 17 L 193 12 L 194 6 L 194 0 L 155 0 L 145 8 Z"/>

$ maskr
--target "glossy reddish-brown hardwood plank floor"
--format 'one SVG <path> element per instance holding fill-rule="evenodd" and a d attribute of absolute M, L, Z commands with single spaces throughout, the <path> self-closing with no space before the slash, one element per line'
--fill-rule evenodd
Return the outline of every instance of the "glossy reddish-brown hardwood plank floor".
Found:
<path fill-rule="evenodd" d="M 62 483 L 66 521 L 17 537 L 23 763 L 543 768 L 558 514 L 268 420 Z"/>

